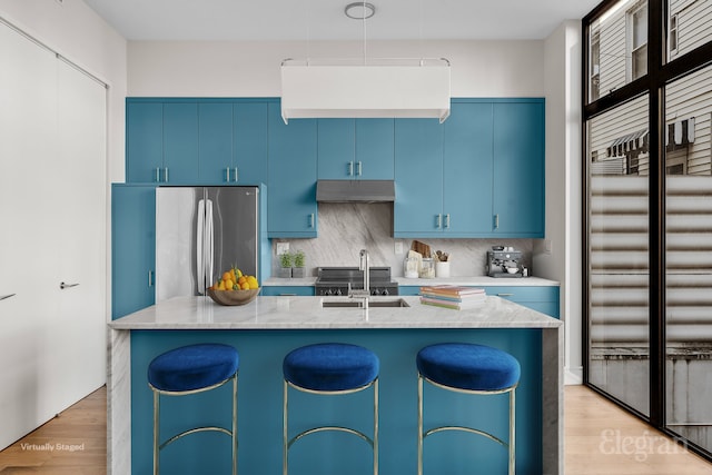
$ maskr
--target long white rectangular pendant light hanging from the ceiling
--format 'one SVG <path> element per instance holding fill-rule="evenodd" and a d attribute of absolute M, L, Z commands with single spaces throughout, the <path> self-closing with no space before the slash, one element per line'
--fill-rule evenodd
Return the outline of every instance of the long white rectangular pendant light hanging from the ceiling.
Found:
<path fill-rule="evenodd" d="M 435 118 L 443 122 L 449 116 L 447 59 L 336 61 L 283 61 L 285 123 L 306 118 Z"/>

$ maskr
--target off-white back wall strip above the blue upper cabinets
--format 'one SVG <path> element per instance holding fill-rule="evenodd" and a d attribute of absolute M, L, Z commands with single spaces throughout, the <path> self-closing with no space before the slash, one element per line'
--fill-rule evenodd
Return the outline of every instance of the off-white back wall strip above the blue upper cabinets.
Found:
<path fill-rule="evenodd" d="M 277 97 L 285 58 L 359 58 L 362 42 L 160 42 L 128 46 L 128 96 Z M 380 41 L 369 57 L 452 62 L 454 97 L 544 95 L 543 41 Z"/>

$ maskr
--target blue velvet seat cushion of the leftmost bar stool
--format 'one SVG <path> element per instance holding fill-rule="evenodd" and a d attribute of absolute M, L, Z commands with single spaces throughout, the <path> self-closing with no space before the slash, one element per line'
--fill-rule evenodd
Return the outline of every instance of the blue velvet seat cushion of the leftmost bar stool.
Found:
<path fill-rule="evenodd" d="M 182 346 L 154 358 L 148 365 L 148 382 L 160 390 L 201 389 L 233 376 L 239 363 L 237 349 L 229 345 Z"/>

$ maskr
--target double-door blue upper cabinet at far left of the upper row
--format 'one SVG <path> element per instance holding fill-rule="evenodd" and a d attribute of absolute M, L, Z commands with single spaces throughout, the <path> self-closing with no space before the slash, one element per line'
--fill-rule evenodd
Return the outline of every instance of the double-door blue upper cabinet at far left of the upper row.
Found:
<path fill-rule="evenodd" d="M 129 182 L 191 184 L 198 179 L 198 105 L 127 102 Z"/>

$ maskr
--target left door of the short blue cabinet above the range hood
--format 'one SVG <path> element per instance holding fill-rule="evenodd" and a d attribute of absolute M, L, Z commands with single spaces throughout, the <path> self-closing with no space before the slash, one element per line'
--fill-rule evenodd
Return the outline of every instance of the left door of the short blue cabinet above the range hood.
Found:
<path fill-rule="evenodd" d="M 353 180 L 356 178 L 354 121 L 354 119 L 317 120 L 317 176 L 319 179 Z"/>

